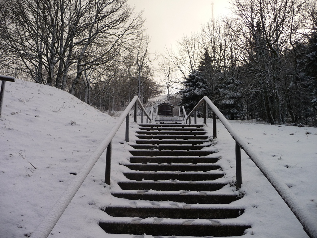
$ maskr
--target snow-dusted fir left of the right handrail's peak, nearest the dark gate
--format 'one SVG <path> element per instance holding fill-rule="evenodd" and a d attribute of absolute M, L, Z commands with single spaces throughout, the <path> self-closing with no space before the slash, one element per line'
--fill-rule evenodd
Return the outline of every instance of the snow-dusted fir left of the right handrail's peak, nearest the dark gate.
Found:
<path fill-rule="evenodd" d="M 198 70 L 193 70 L 183 85 L 184 89 L 180 91 L 182 95 L 180 106 L 184 106 L 185 110 L 190 112 L 204 96 L 209 95 L 208 82 Z"/>

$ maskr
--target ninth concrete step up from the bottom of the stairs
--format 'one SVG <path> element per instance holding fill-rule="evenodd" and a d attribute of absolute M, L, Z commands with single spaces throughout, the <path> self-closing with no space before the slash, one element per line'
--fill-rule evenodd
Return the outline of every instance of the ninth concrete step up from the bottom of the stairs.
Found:
<path fill-rule="evenodd" d="M 131 147 L 133 147 L 134 149 L 158 149 L 158 150 L 199 150 L 199 149 L 203 149 L 204 147 L 210 146 L 205 144 L 205 145 L 178 145 L 178 144 L 163 144 L 163 145 L 147 145 L 147 144 L 136 144 L 136 145 L 130 145 Z"/>

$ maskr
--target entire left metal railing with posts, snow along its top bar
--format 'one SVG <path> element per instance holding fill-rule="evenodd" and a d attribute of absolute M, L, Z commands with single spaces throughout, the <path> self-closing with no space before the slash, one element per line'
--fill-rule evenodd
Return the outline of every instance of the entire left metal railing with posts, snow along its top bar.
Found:
<path fill-rule="evenodd" d="M 138 103 L 139 102 L 139 103 Z M 47 238 L 54 228 L 55 224 L 67 208 L 68 204 L 73 199 L 74 195 L 80 188 L 81 184 L 86 179 L 87 175 L 94 167 L 95 163 L 98 161 L 102 153 L 107 148 L 106 152 L 106 175 L 105 175 L 105 183 L 110 185 L 110 167 L 111 167 L 111 141 L 117 131 L 119 130 L 121 124 L 126 119 L 126 142 L 129 141 L 129 112 L 134 106 L 134 122 L 137 122 L 137 110 L 138 104 L 140 104 L 142 112 L 146 114 L 146 119 L 150 120 L 151 118 L 148 113 L 145 111 L 140 99 L 138 96 L 134 96 L 132 101 L 126 107 L 124 112 L 121 114 L 116 124 L 113 126 L 112 130 L 108 133 L 106 138 L 100 143 L 97 149 L 94 151 L 94 154 L 90 156 L 88 161 L 84 164 L 84 166 L 80 169 L 80 171 L 75 176 L 74 180 L 69 184 L 63 194 L 59 197 L 59 199 L 55 202 L 54 206 L 49 210 L 49 213 L 44 217 L 43 221 L 37 226 L 37 228 L 33 231 L 31 237 L 32 238 Z M 141 119 L 143 121 L 143 119 Z M 143 122 L 142 122 L 143 123 Z"/>

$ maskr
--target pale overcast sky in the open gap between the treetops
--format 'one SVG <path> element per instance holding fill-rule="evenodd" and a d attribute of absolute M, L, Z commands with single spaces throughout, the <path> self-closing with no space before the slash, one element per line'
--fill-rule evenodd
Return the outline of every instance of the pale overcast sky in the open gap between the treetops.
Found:
<path fill-rule="evenodd" d="M 182 36 L 199 31 L 212 17 L 212 2 L 215 18 L 228 14 L 228 0 L 128 0 L 136 12 L 144 10 L 152 53 L 164 53 L 165 46 L 169 48 Z"/>

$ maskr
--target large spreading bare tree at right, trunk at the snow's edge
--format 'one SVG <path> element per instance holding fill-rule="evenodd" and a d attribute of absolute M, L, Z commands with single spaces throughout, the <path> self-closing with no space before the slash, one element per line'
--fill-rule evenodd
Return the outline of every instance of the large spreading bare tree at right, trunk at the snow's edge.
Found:
<path fill-rule="evenodd" d="M 250 90 L 261 96 L 270 123 L 282 123 L 285 58 L 298 30 L 303 2 L 299 0 L 236 0 L 233 2 L 239 34 L 237 38 L 244 73 Z"/>

